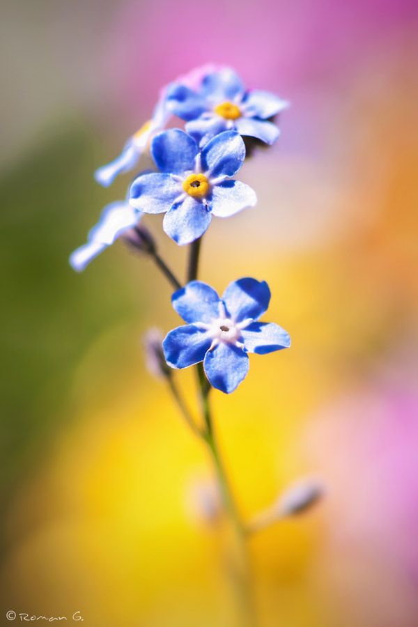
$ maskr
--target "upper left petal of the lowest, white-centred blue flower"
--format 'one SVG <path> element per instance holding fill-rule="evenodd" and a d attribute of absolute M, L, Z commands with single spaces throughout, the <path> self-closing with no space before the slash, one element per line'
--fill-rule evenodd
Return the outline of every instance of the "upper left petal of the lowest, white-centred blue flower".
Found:
<path fill-rule="evenodd" d="M 190 281 L 171 296 L 171 302 L 179 316 L 187 323 L 211 323 L 219 318 L 219 296 L 203 281 Z"/>

